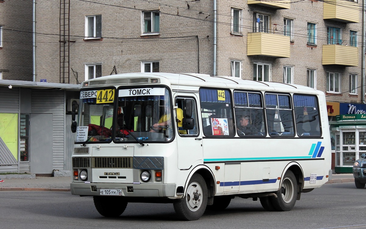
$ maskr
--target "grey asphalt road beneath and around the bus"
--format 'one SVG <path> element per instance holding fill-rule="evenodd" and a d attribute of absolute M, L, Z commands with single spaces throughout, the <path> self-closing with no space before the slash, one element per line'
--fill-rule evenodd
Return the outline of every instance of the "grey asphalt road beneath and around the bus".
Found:
<path fill-rule="evenodd" d="M 179 221 L 172 204 L 129 203 L 117 218 L 102 217 L 91 197 L 70 192 L 1 191 L 0 228 L 366 228 L 366 188 L 325 184 L 302 194 L 293 210 L 265 211 L 259 201 L 235 198 L 224 211 L 206 211 L 198 221 Z"/>

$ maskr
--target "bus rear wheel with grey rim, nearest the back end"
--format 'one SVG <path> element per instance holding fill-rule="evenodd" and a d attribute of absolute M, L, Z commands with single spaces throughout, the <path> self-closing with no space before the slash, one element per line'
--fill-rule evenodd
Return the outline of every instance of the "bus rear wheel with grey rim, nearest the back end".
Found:
<path fill-rule="evenodd" d="M 290 211 L 296 203 L 298 183 L 292 171 L 287 171 L 282 179 L 280 190 L 275 192 L 277 198 L 272 199 L 273 207 L 277 211 Z"/>

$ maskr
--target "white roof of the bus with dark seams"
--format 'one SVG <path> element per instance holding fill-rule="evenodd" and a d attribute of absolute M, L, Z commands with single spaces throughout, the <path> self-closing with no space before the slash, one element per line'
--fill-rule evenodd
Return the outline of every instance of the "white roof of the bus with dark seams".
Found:
<path fill-rule="evenodd" d="M 199 73 L 123 73 L 110 76 L 98 77 L 96 79 L 87 80 L 89 86 L 106 86 L 106 85 L 123 85 L 126 84 L 126 79 L 141 78 L 135 83 L 143 84 L 143 78 L 159 78 L 161 83 L 169 83 L 179 86 L 195 86 L 195 87 L 225 87 L 225 88 L 240 88 L 247 90 L 262 90 L 262 91 L 283 91 L 283 92 L 302 92 L 311 94 L 324 94 L 314 88 L 306 87 L 297 84 L 285 84 L 276 82 L 263 82 L 255 80 L 243 80 L 231 76 L 210 76 Z M 149 83 L 146 80 L 145 83 Z M 132 81 L 131 84 L 134 84 Z"/>

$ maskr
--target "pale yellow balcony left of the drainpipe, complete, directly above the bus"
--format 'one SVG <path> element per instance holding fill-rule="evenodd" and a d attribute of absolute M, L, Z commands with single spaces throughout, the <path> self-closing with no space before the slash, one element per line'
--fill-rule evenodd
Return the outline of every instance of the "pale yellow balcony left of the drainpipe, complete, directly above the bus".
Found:
<path fill-rule="evenodd" d="M 273 33 L 248 33 L 247 56 L 290 57 L 290 37 Z"/>

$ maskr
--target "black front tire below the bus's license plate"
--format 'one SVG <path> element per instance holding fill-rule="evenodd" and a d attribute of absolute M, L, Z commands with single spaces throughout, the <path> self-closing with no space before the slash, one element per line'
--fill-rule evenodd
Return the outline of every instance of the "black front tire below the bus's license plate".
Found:
<path fill-rule="evenodd" d="M 93 196 L 93 200 L 95 208 L 104 217 L 118 217 L 127 207 L 127 201 L 123 197 Z"/>

